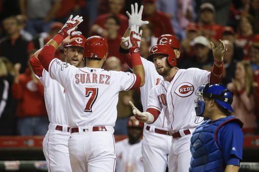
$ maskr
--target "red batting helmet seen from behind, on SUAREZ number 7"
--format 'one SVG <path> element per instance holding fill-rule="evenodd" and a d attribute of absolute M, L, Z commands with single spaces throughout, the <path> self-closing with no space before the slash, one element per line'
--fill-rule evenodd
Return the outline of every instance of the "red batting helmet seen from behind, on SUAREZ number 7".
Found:
<path fill-rule="evenodd" d="M 104 55 L 108 52 L 108 44 L 105 38 L 101 36 L 91 36 L 87 38 L 84 57 L 103 59 Z"/>

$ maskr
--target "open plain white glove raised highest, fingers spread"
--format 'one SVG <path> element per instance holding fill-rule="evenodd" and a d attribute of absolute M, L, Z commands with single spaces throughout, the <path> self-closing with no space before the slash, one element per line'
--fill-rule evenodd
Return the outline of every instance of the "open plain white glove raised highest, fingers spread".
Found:
<path fill-rule="evenodd" d="M 142 25 L 148 24 L 148 21 L 142 21 L 142 12 L 143 12 L 143 6 L 140 6 L 140 11 L 138 13 L 138 3 L 135 3 L 135 10 L 134 10 L 134 6 L 133 4 L 131 5 L 131 9 L 132 9 L 132 14 L 130 14 L 128 11 L 126 11 L 126 14 L 128 16 L 128 26 L 139 26 L 141 27 Z"/>

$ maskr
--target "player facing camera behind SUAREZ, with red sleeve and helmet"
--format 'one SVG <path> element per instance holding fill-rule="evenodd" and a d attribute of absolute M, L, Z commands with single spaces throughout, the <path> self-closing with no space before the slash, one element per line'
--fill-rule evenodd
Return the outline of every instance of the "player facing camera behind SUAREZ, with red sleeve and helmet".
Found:
<path fill-rule="evenodd" d="M 85 66 L 83 49 L 85 37 L 71 36 L 70 43 L 64 45 L 66 62 L 75 67 Z M 37 59 L 37 51 L 30 59 L 35 76 L 44 85 L 45 103 L 49 116 L 49 130 L 43 140 L 42 147 L 48 164 L 48 171 L 72 171 L 68 152 L 70 137 L 68 119 L 65 112 L 65 90 L 56 80 L 51 79 Z"/>

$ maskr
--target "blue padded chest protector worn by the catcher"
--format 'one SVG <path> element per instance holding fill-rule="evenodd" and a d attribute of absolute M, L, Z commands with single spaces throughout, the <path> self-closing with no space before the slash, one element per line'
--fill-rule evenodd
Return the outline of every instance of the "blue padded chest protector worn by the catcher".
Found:
<path fill-rule="evenodd" d="M 224 171 L 223 153 L 217 143 L 217 133 L 223 125 L 232 121 L 241 123 L 236 117 L 229 116 L 213 123 L 207 120 L 196 128 L 191 137 L 190 172 Z"/>

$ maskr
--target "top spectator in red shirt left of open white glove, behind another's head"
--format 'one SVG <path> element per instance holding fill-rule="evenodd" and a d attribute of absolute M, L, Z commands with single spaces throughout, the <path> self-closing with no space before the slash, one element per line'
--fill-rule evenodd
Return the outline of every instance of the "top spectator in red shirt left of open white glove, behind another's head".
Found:
<path fill-rule="evenodd" d="M 105 36 L 106 30 L 105 30 L 105 22 L 108 17 L 110 16 L 116 16 L 120 21 L 120 27 L 118 30 L 119 35 L 123 35 L 124 32 L 128 28 L 128 18 L 121 14 L 121 10 L 124 6 L 124 0 L 109 0 L 109 13 L 102 14 L 97 17 L 96 21 L 92 25 L 90 29 L 90 35 L 98 34 L 100 36 Z"/>

